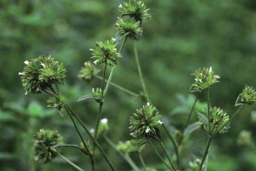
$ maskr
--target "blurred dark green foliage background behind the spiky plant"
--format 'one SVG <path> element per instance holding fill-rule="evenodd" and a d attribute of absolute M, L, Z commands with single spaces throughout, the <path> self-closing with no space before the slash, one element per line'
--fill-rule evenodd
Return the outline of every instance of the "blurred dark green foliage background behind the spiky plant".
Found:
<path fill-rule="evenodd" d="M 256 86 L 256 1 L 144 2 L 152 19 L 144 24 L 144 37 L 137 43 L 139 57 L 151 101 L 170 130 L 182 128 L 185 122 L 194 98 L 188 92 L 193 82 L 190 74 L 198 67 L 212 66 L 221 76 L 221 82 L 211 89 L 211 103 L 228 114 L 234 113 L 236 98 L 244 84 Z M 40 128 L 57 129 L 67 144 L 79 144 L 80 139 L 66 114 L 61 117 L 46 108 L 48 95 L 24 95 L 17 73 L 22 71 L 23 61 L 40 54 L 51 54 L 63 62 L 68 72 L 61 89 L 86 125 L 93 127 L 98 104 L 76 100 L 90 94 L 93 87 L 100 87 L 101 82 L 95 78 L 88 83 L 77 75 L 83 63 L 90 60 L 89 48 L 95 41 L 115 36 L 119 3 L 120 0 L 0 0 L 0 170 L 74 170 L 60 158 L 46 165 L 34 161 L 33 135 Z M 131 40 L 125 45 L 113 82 L 136 93 L 141 90 Z M 141 99 L 132 102 L 133 98 L 111 87 L 105 99 L 102 116 L 109 119 L 108 136 L 115 143 L 131 139 L 129 116 L 145 103 Z M 199 99 L 204 102 L 204 95 Z M 196 108 L 202 106 L 198 103 Z M 254 106 L 246 107 L 227 134 L 214 138 L 208 171 L 256 170 L 256 153 L 236 144 L 242 129 L 255 136 L 256 123 L 250 121 L 253 110 Z M 196 120 L 193 114 L 191 123 Z M 206 139 L 204 131 L 195 131 L 185 140 L 183 167 L 202 156 Z M 163 140 L 173 154 L 173 146 L 165 134 Z M 99 142 L 118 170 L 131 169 L 103 138 Z M 64 149 L 62 154 L 90 170 L 89 158 L 79 151 Z M 142 155 L 148 166 L 164 170 L 149 147 Z M 140 164 L 136 154 L 132 157 Z M 98 171 L 109 170 L 99 152 L 96 165 Z"/>

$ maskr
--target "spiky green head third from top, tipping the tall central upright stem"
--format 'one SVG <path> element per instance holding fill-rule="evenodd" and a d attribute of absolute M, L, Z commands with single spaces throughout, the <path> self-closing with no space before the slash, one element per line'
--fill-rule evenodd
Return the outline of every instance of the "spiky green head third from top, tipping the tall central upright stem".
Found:
<path fill-rule="evenodd" d="M 121 54 L 117 52 L 114 39 L 106 40 L 105 42 L 96 42 L 95 49 L 92 51 L 94 64 L 106 63 L 109 66 L 115 66 Z"/>

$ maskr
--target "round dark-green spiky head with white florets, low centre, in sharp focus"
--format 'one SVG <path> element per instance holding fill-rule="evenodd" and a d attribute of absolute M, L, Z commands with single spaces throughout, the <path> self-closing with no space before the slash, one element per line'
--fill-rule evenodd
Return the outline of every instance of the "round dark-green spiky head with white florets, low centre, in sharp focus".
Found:
<path fill-rule="evenodd" d="M 161 137 L 161 117 L 156 107 L 147 103 L 130 117 L 130 135 L 146 138 Z"/>

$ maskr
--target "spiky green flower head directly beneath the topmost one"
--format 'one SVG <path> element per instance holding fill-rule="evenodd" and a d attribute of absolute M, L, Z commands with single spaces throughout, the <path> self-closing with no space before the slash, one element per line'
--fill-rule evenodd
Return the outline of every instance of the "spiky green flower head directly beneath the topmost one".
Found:
<path fill-rule="evenodd" d="M 130 32 L 128 36 L 131 38 L 136 38 L 143 31 L 140 21 L 135 21 L 133 18 L 117 18 L 115 26 L 120 35 Z"/>

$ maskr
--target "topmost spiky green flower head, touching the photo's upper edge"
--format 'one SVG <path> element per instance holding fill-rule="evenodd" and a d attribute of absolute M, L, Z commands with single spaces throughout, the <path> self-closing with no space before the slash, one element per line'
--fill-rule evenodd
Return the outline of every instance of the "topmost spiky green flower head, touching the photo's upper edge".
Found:
<path fill-rule="evenodd" d="M 130 16 L 135 19 L 135 21 L 147 21 L 151 18 L 151 14 L 148 13 L 149 8 L 144 5 L 142 1 L 139 0 L 129 0 L 129 3 L 124 2 L 119 5 L 119 11 L 122 13 L 122 16 Z"/>

